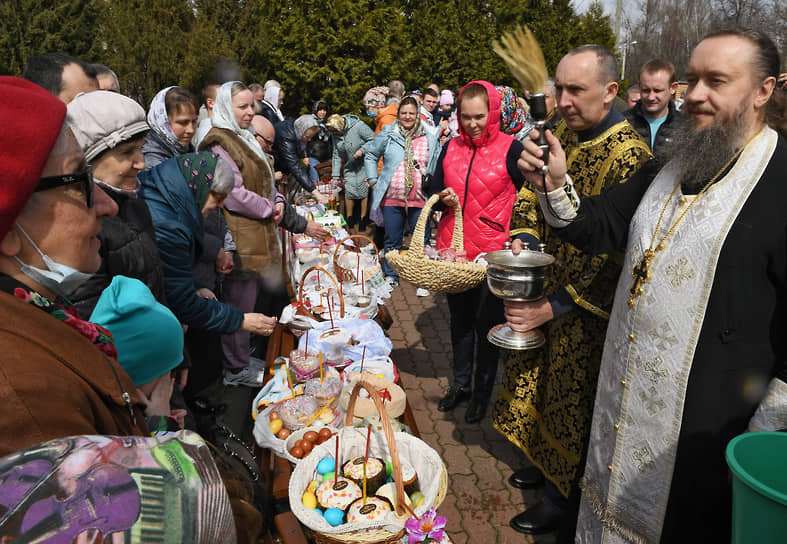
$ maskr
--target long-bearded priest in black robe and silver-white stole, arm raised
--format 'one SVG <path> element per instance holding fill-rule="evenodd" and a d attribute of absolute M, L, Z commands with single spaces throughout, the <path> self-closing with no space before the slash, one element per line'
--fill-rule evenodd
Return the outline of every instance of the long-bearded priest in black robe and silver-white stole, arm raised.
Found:
<path fill-rule="evenodd" d="M 558 235 L 626 252 L 576 542 L 729 542 L 727 443 L 787 428 L 787 147 L 765 122 L 780 66 L 760 32 L 707 36 L 670 162 L 599 196 L 579 200 L 550 132 L 547 175 L 525 145 L 519 167 Z"/>

